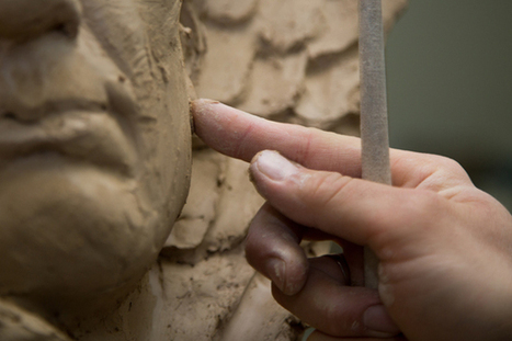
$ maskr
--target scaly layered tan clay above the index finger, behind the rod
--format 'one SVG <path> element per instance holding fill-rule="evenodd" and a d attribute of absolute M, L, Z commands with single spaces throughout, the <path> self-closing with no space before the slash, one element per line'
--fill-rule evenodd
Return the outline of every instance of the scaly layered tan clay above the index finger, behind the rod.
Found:
<path fill-rule="evenodd" d="M 342 117 L 359 113 L 356 0 L 260 0 L 241 22 L 234 9 L 249 8 L 251 1 L 221 2 L 215 15 L 229 20 L 219 24 L 204 14 L 203 26 L 191 33 L 207 42 L 203 55 L 190 58 L 200 96 L 331 130 Z M 186 12 L 213 7 L 211 1 L 193 4 Z M 406 4 L 383 0 L 387 30 Z"/>

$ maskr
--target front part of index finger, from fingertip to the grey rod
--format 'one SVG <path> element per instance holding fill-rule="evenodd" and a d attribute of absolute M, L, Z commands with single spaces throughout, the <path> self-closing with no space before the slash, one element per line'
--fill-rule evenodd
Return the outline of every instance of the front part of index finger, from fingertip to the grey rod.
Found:
<path fill-rule="evenodd" d="M 195 133 L 224 155 L 249 162 L 272 149 L 309 169 L 361 175 L 359 138 L 268 121 L 209 100 L 192 102 L 192 113 Z"/>

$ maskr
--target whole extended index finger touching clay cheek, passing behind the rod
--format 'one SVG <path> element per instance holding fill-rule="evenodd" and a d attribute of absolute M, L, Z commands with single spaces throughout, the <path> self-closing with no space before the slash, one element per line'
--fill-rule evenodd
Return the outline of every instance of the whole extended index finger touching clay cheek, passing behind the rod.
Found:
<path fill-rule="evenodd" d="M 261 150 L 277 150 L 312 170 L 361 178 L 360 138 L 268 121 L 211 100 L 194 101 L 191 110 L 195 133 L 224 155 L 249 162 Z M 424 183 L 425 189 L 437 192 L 470 182 L 464 170 L 447 158 L 398 149 L 391 149 L 390 158 L 392 183 L 397 186 Z"/>

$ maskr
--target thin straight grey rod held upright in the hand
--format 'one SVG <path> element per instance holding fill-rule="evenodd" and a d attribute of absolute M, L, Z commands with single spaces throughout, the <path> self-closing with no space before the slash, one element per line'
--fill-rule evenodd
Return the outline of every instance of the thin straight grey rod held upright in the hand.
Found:
<path fill-rule="evenodd" d="M 391 184 L 382 0 L 360 0 L 363 179 Z M 378 260 L 365 248 L 365 286 L 378 286 Z"/>

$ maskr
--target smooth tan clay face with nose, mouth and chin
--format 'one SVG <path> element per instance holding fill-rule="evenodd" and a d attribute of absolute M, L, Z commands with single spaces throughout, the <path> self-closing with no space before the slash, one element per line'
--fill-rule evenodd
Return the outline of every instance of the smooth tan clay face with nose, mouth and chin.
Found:
<path fill-rule="evenodd" d="M 0 0 L 0 295 L 107 293 L 184 203 L 180 0 Z"/>

